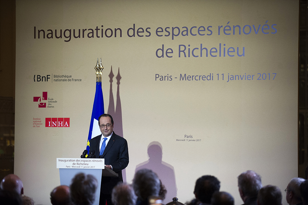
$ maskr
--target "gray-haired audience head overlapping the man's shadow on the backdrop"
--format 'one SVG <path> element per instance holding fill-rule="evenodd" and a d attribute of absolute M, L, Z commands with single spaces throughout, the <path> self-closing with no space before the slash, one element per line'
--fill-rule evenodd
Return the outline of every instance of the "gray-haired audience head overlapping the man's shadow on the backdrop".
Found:
<path fill-rule="evenodd" d="M 149 196 L 158 196 L 160 180 L 155 172 L 149 169 L 140 169 L 135 173 L 132 186 L 138 200 L 147 200 Z"/>

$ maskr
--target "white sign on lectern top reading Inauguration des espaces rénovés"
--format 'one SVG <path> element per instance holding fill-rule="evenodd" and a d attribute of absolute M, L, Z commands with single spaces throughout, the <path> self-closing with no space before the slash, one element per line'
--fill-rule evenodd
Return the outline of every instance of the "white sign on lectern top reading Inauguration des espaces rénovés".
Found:
<path fill-rule="evenodd" d="M 57 158 L 57 168 L 67 169 L 104 169 L 105 159 Z"/>

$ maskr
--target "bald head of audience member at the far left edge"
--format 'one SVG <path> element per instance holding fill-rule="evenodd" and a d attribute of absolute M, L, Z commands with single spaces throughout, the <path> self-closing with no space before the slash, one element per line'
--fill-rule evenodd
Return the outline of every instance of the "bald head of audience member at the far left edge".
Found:
<path fill-rule="evenodd" d="M 14 174 L 6 175 L 1 181 L 0 188 L 6 191 L 15 191 L 19 195 L 23 194 L 22 181 Z"/>

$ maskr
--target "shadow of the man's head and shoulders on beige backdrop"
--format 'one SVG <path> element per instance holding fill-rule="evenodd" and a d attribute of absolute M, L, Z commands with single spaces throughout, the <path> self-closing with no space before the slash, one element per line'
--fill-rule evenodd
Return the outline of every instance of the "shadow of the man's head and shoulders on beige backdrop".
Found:
<path fill-rule="evenodd" d="M 135 173 L 144 168 L 154 171 L 167 189 L 164 203 L 172 202 L 172 198 L 176 197 L 177 191 L 174 168 L 170 164 L 162 161 L 163 152 L 159 142 L 151 142 L 148 145 L 148 156 L 148 161 L 136 166 Z"/>

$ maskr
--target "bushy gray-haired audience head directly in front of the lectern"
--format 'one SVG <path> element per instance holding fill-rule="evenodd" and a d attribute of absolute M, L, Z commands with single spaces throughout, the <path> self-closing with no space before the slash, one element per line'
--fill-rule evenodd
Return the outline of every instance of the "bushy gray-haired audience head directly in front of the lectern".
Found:
<path fill-rule="evenodd" d="M 84 173 L 76 174 L 70 185 L 72 202 L 83 205 L 93 204 L 97 186 L 98 182 L 95 176 Z"/>

